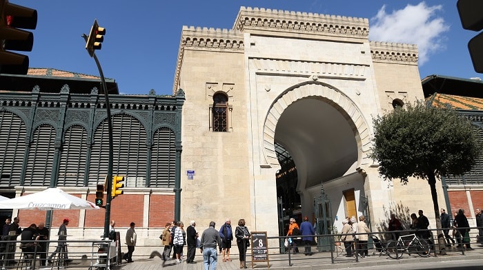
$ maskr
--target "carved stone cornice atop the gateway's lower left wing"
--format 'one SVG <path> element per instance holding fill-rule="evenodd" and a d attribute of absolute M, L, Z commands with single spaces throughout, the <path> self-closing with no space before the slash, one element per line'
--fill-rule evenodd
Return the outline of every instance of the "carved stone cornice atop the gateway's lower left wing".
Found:
<path fill-rule="evenodd" d="M 244 52 L 244 36 L 238 30 L 200 28 L 183 26 L 176 63 L 175 82 L 172 93 L 179 88 L 179 72 L 185 50 L 212 50 L 218 52 Z"/>

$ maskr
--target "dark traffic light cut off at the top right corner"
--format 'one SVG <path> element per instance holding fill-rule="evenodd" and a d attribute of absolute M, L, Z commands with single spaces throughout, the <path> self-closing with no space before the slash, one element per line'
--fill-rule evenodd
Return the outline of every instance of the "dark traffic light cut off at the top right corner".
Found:
<path fill-rule="evenodd" d="M 463 28 L 480 31 L 483 29 L 483 1 L 458 0 L 456 3 Z M 468 43 L 475 72 L 483 73 L 483 33 L 477 34 Z"/>

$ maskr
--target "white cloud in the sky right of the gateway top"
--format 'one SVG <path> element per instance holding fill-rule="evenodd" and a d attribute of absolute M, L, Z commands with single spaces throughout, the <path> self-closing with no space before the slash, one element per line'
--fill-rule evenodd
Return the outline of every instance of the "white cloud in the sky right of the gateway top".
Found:
<path fill-rule="evenodd" d="M 419 63 L 423 65 L 429 56 L 445 49 L 443 33 L 449 31 L 449 25 L 436 13 L 441 5 L 427 6 L 421 2 L 417 6 L 408 4 L 401 10 L 386 13 L 386 5 L 371 18 L 369 38 L 372 41 L 417 44 Z"/>

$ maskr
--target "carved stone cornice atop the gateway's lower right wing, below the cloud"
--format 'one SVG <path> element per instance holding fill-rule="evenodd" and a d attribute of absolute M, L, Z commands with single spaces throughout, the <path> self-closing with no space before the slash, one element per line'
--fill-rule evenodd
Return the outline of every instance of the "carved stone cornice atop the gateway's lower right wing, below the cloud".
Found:
<path fill-rule="evenodd" d="M 371 41 L 371 55 L 374 62 L 411 63 L 417 65 L 417 45 Z"/>

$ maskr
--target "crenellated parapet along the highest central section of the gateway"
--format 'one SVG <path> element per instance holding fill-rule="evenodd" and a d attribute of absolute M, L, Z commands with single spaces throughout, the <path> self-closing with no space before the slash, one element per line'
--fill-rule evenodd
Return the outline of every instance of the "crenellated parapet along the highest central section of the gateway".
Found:
<path fill-rule="evenodd" d="M 233 29 L 240 31 L 294 32 L 367 39 L 369 23 L 368 19 L 365 18 L 241 7 Z"/>

